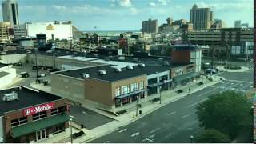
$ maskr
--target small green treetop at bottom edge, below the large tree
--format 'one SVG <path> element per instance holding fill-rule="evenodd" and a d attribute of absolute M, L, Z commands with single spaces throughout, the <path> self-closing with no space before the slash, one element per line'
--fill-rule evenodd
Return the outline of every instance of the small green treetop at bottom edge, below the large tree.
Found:
<path fill-rule="evenodd" d="M 231 142 L 230 138 L 222 132 L 214 129 L 206 130 L 203 134 L 199 135 L 195 139 L 196 142 L 200 143 L 227 143 Z"/>

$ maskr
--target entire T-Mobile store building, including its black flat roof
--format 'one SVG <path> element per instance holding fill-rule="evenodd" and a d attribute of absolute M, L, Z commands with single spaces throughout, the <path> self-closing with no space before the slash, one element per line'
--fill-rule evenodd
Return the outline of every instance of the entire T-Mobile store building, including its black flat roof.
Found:
<path fill-rule="evenodd" d="M 24 86 L 0 90 L 0 138 L 3 142 L 38 142 L 69 126 L 69 103 Z"/>

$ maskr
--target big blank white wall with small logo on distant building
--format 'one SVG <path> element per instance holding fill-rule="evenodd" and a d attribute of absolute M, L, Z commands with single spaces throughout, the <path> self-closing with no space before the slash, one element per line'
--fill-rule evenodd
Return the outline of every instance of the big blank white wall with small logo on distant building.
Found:
<path fill-rule="evenodd" d="M 53 26 L 54 30 L 46 30 L 49 25 Z M 54 24 L 54 22 L 27 23 L 26 29 L 28 37 L 36 37 L 36 34 L 46 34 L 47 39 L 51 39 L 52 34 L 54 34 L 54 39 L 70 39 L 70 37 L 73 37 L 72 24 Z"/>

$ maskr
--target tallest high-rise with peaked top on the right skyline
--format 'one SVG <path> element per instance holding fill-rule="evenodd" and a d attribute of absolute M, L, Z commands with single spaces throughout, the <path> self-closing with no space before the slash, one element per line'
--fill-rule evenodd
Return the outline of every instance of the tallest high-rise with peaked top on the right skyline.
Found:
<path fill-rule="evenodd" d="M 190 10 L 190 22 L 194 30 L 205 30 L 210 28 L 210 8 L 198 8 L 196 4 Z"/>

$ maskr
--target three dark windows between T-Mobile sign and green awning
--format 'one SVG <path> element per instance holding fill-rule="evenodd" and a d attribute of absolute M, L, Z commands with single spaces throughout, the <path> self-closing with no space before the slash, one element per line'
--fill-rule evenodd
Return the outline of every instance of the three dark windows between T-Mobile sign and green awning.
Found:
<path fill-rule="evenodd" d="M 65 112 L 65 106 L 62 106 L 62 107 L 52 109 L 51 110 L 51 115 L 53 116 L 53 115 L 57 115 L 57 114 L 62 114 L 64 112 Z M 46 118 L 46 117 L 47 117 L 46 111 L 42 111 L 42 112 L 39 112 L 37 114 L 33 114 L 32 115 L 32 120 L 37 121 L 39 119 Z M 26 124 L 26 123 L 27 123 L 27 117 L 16 118 L 16 119 L 13 119 L 13 120 L 10 121 L 10 126 L 14 127 L 14 126 L 23 125 L 23 124 Z"/>

